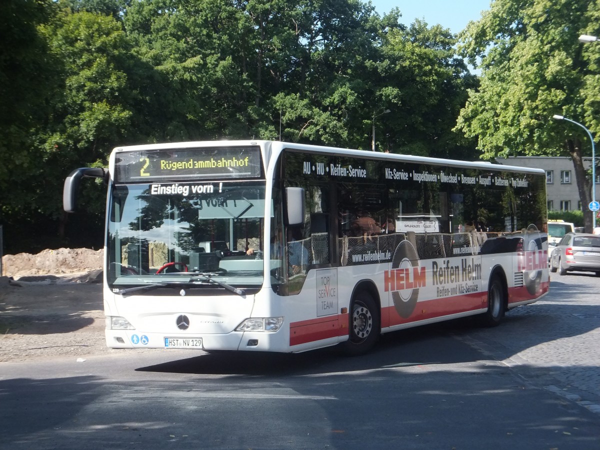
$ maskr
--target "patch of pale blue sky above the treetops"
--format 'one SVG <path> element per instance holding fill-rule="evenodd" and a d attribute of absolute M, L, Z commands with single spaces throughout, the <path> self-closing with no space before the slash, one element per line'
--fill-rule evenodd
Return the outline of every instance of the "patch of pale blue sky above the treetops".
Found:
<path fill-rule="evenodd" d="M 439 23 L 458 33 L 471 20 L 479 20 L 481 11 L 490 9 L 491 0 L 371 0 L 377 13 L 383 16 L 400 8 L 400 22 L 410 25 L 415 19 L 425 19 L 429 26 Z"/>

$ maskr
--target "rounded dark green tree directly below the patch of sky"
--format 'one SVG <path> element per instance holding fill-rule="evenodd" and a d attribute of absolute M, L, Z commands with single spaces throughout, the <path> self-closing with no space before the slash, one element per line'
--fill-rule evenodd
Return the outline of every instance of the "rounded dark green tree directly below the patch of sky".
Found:
<path fill-rule="evenodd" d="M 467 100 L 467 89 L 475 88 L 477 80 L 457 56 L 455 44 L 448 29 L 429 27 L 422 20 L 386 35 L 374 97 L 380 109 L 391 110 L 379 119 L 387 125 L 387 148 L 472 158 L 473 141 L 452 128 Z"/>

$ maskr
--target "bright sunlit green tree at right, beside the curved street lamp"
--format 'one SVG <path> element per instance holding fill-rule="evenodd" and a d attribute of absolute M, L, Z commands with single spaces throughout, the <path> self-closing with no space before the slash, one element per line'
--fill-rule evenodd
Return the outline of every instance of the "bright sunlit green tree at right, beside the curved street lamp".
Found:
<path fill-rule="evenodd" d="M 570 156 L 583 205 L 590 200 L 583 167 L 589 137 L 552 116 L 600 131 L 600 52 L 577 39 L 598 31 L 599 8 L 598 0 L 494 0 L 460 35 L 461 51 L 481 68 L 481 86 L 469 92 L 457 129 L 478 138 L 484 158 Z M 593 216 L 584 217 L 590 231 Z"/>

